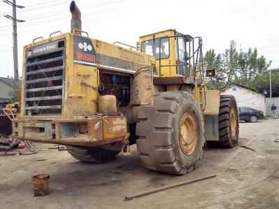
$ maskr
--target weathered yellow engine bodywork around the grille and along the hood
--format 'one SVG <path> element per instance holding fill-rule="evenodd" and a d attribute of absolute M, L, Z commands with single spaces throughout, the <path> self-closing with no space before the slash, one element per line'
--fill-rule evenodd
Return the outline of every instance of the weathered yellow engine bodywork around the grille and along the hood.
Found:
<path fill-rule="evenodd" d="M 56 40 L 66 40 L 66 68 L 64 75 L 64 104 L 61 118 L 71 118 L 76 116 L 89 116 L 98 111 L 98 86 L 99 70 L 108 71 L 115 74 L 132 74 L 140 68 L 150 67 L 155 63 L 153 56 L 142 52 L 135 52 L 107 42 L 91 39 L 93 47 L 96 50 L 96 66 L 78 65 L 73 61 L 74 52 L 73 33 L 65 33 L 52 38 L 47 38 L 39 42 L 32 43 L 24 47 L 23 69 L 22 69 L 22 89 L 24 89 L 25 80 L 25 62 L 27 50 L 39 45 L 43 45 Z M 113 60 L 113 61 L 112 61 Z M 114 65 L 117 63 L 117 67 Z M 24 106 L 24 91 L 22 91 L 21 107 Z M 73 105 L 74 104 L 74 105 Z M 20 118 L 24 116 L 21 111 Z M 45 116 L 53 118 L 56 116 Z"/>

